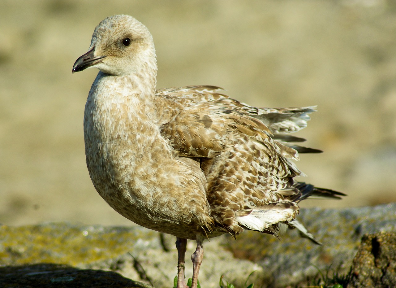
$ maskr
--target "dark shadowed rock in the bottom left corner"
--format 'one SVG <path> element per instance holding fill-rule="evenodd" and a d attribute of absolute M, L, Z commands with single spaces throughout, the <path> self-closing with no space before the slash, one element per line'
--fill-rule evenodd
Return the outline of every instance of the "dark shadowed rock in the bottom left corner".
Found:
<path fill-rule="evenodd" d="M 0 286 L 4 288 L 151 287 L 111 271 L 78 269 L 52 263 L 0 267 Z"/>

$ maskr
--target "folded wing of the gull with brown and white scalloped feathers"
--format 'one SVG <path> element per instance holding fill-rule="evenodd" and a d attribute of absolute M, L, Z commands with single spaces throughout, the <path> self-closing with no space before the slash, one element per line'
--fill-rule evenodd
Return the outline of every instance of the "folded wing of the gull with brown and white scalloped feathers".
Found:
<path fill-rule="evenodd" d="M 302 172 L 291 160 L 299 159 L 297 150 L 317 151 L 289 145 L 305 139 L 286 134 L 305 128 L 315 107 L 255 108 L 220 91 L 216 86 L 158 90 L 159 108 L 166 108 L 159 109 L 161 135 L 175 157 L 200 162 L 217 227 L 233 235 L 255 227 L 277 235 L 278 222 L 298 214 L 293 200 L 302 195 L 293 182 Z"/>

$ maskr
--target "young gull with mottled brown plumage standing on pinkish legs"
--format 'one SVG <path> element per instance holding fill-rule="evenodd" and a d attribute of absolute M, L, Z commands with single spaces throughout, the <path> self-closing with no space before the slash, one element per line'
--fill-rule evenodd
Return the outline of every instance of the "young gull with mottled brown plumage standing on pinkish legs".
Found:
<path fill-rule="evenodd" d="M 156 88 L 157 60 L 147 27 L 129 15 L 107 17 L 72 72 L 96 67 L 84 111 L 86 163 L 103 199 L 127 219 L 176 237 L 177 288 L 192 288 L 206 239 L 245 230 L 279 238 L 287 227 L 320 242 L 296 217 L 308 197 L 345 194 L 294 181 L 294 161 L 318 149 L 290 135 L 316 106 L 257 108 L 217 86 Z"/>

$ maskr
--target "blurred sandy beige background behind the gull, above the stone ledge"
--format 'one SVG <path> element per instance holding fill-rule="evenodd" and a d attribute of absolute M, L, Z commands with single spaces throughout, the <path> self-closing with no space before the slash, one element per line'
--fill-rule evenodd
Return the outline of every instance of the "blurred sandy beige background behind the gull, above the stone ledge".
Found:
<path fill-rule="evenodd" d="M 323 154 L 298 166 L 342 201 L 396 201 L 396 2 L 0 1 L 0 223 L 131 225 L 85 165 L 84 104 L 97 70 L 72 75 L 105 17 L 152 32 L 158 88 L 211 84 L 261 107 L 318 105 L 296 134 Z"/>

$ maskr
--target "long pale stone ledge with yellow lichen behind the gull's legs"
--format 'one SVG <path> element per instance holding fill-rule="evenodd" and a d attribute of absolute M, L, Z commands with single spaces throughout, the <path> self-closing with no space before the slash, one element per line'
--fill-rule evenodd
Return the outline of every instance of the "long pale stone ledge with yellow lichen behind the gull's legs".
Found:
<path fill-rule="evenodd" d="M 218 287 L 221 275 L 225 275 L 225 280 L 234 283 L 236 287 L 243 286 L 253 271 L 255 272 L 247 282 L 259 287 L 294 285 L 305 281 L 307 277 L 314 278 L 320 273 L 326 275 L 327 271 L 330 271 L 329 275 L 333 272 L 346 274 L 363 235 L 396 231 L 396 204 L 343 210 L 303 209 L 299 219 L 324 243 L 323 246 L 300 238 L 296 230 L 287 231 L 281 241 L 270 235 L 250 231 L 239 235 L 236 241 L 227 236 L 211 239 L 210 242 L 204 242 L 204 265 L 200 271 L 202 287 Z M 51 267 L 58 269 L 59 265 L 67 265 L 67 271 L 74 271 L 81 279 L 89 279 L 89 275 L 94 273 L 107 277 L 105 275 L 108 274 L 102 273 L 111 271 L 133 280 L 152 282 L 158 288 L 171 287 L 176 276 L 175 237 L 162 236 L 143 227 L 103 227 L 70 223 L 44 223 L 22 227 L 2 225 L 0 280 L 18 279 L 17 275 L 23 280 L 24 275 L 30 273 L 23 269 L 29 271 L 41 267 L 35 266 L 40 263 L 52 263 L 54 266 L 39 270 L 49 271 L 48 277 L 51 279 L 58 277 L 53 274 Z M 382 236 L 375 239 L 380 247 L 376 252 L 378 256 L 370 256 L 367 251 L 373 251 L 373 248 L 364 246 L 366 248 L 359 250 L 362 256 L 357 259 L 364 259 L 362 257 L 368 253 L 365 257 L 373 257 L 376 267 L 384 269 L 384 263 L 390 259 L 387 260 L 386 257 L 394 256 L 385 257 L 390 254 L 383 253 L 391 251 L 389 245 L 394 240 Z M 364 240 L 363 243 L 367 244 L 362 245 L 372 246 L 375 243 L 370 241 Z M 195 250 L 195 241 L 189 241 L 187 249 L 186 277 L 190 278 L 192 265 L 188 256 Z M 366 273 L 364 271 L 369 271 L 369 268 L 362 268 L 364 261 L 354 261 L 354 271 L 358 271 L 360 275 L 360 278 L 355 277 L 356 281 L 362 281 L 362 275 Z M 17 267 L 15 273 L 19 274 L 8 275 L 8 271 L 13 269 L 10 266 Z M 63 266 L 60 267 L 59 269 L 64 269 Z M 388 278 L 393 275 L 390 270 L 392 267 L 390 265 L 386 271 Z M 122 279 L 120 275 L 114 276 L 115 279 Z M 65 287 L 69 287 L 68 281 L 64 283 Z"/>

